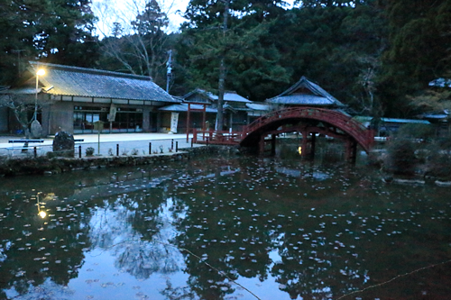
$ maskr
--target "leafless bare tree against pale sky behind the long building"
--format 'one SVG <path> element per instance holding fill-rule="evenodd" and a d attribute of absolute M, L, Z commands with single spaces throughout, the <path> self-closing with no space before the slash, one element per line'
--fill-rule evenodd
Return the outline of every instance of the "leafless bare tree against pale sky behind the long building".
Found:
<path fill-rule="evenodd" d="M 168 14 L 172 4 L 164 4 L 165 11 L 156 0 L 133 0 L 126 9 L 112 11 L 111 7 L 97 6 L 97 14 L 107 20 L 106 15 L 115 15 L 112 28 L 99 30 L 105 36 L 109 32 L 113 37 L 106 37 L 102 41 L 107 57 L 115 59 L 123 69 L 131 74 L 152 77 L 159 82 L 161 74 L 165 74 L 167 63 L 167 34 L 165 30 L 169 25 Z M 111 17 L 110 17 L 110 20 Z M 108 31 L 108 32 L 106 32 Z"/>

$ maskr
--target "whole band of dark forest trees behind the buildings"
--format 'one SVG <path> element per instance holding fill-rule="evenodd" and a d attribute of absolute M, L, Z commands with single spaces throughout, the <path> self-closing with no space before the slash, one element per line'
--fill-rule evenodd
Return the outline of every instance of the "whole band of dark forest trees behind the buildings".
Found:
<path fill-rule="evenodd" d="M 451 77 L 451 0 L 190 0 L 178 32 L 163 0 L 134 1 L 134 16 L 100 38 L 90 0 L 0 0 L 0 85 L 40 60 L 169 80 L 171 95 L 263 101 L 306 76 L 358 114 L 446 107 L 446 88 L 428 84 Z"/>

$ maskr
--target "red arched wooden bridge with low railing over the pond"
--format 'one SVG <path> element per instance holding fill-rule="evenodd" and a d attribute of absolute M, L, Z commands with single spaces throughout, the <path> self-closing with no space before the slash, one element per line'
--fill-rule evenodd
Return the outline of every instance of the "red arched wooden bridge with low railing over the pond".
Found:
<path fill-rule="evenodd" d="M 357 144 L 368 152 L 374 141 L 373 131 L 350 116 L 313 107 L 291 107 L 265 114 L 244 126 L 243 132 L 195 132 L 194 141 L 223 145 L 240 144 L 243 147 L 258 148 L 261 154 L 265 145 L 271 143 L 271 152 L 274 153 L 276 136 L 283 132 L 302 134 L 302 156 L 314 154 L 315 133 L 345 141 L 346 159 L 355 159 Z M 271 139 L 266 139 L 269 135 Z"/>

